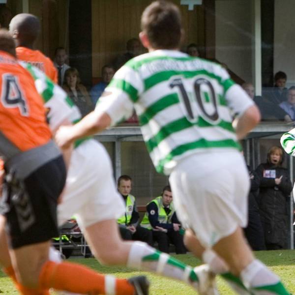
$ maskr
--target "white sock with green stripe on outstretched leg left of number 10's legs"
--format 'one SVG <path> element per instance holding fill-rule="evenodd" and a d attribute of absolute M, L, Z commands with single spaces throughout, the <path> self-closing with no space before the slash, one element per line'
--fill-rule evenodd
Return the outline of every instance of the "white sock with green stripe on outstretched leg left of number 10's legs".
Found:
<path fill-rule="evenodd" d="M 139 241 L 134 242 L 131 246 L 127 266 L 178 279 L 193 287 L 197 287 L 199 282 L 199 278 L 191 266 L 187 266 L 170 255 Z"/>

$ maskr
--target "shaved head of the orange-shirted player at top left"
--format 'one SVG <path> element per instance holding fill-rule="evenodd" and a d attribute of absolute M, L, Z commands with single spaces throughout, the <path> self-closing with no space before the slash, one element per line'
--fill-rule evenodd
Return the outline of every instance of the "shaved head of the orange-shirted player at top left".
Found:
<path fill-rule="evenodd" d="M 10 21 L 9 31 L 17 46 L 32 47 L 40 32 L 40 21 L 32 14 L 20 13 Z"/>

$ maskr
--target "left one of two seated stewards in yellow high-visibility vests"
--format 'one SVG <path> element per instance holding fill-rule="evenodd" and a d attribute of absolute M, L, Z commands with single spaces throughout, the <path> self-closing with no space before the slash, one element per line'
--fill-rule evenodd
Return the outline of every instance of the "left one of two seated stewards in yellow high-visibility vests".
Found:
<path fill-rule="evenodd" d="M 128 175 L 118 178 L 118 191 L 126 204 L 125 214 L 118 219 L 119 231 L 124 240 L 139 240 L 153 244 L 152 234 L 139 225 L 139 213 L 136 208 L 135 197 L 130 195 L 132 179 Z"/>

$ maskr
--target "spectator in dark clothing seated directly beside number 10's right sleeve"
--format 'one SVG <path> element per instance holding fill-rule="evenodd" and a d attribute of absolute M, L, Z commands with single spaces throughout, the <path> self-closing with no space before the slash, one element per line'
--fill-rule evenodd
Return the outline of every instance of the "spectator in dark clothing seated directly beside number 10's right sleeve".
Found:
<path fill-rule="evenodd" d="M 242 88 L 247 92 L 247 94 L 254 100 L 255 104 L 258 106 L 261 117 L 263 120 L 285 120 L 286 122 L 291 122 L 290 116 L 281 108 L 278 108 L 276 104 L 268 101 L 263 96 L 255 96 L 255 89 L 251 83 L 244 83 Z"/>

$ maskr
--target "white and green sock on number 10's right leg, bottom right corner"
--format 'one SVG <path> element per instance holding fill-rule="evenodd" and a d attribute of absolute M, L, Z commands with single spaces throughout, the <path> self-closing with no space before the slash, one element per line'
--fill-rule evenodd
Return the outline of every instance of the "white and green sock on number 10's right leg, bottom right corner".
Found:
<path fill-rule="evenodd" d="M 290 295 L 279 277 L 259 260 L 253 260 L 242 270 L 240 278 L 251 294 Z"/>

